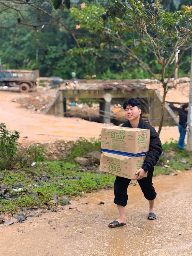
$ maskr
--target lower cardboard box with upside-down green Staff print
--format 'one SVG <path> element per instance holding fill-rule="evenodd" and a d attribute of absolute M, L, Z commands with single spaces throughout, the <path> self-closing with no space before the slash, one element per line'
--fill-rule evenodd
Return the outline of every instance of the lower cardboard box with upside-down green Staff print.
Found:
<path fill-rule="evenodd" d="M 127 179 L 137 179 L 135 173 L 142 167 L 145 156 L 128 157 L 103 152 L 99 170 Z M 144 175 L 147 177 L 147 173 Z"/>

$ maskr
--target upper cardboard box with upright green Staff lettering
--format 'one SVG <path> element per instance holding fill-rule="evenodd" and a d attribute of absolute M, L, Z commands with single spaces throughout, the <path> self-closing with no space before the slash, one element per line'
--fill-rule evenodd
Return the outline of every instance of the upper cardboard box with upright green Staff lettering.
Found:
<path fill-rule="evenodd" d="M 106 151 L 139 154 L 149 151 L 149 129 L 121 126 L 102 127 L 101 148 Z"/>

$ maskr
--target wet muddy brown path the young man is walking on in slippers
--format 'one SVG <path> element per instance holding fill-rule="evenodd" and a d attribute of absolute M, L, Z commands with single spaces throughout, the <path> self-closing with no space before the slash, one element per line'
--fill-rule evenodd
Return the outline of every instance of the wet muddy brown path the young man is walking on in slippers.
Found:
<path fill-rule="evenodd" d="M 0 226 L 1 256 L 191 256 L 192 170 L 154 177 L 157 219 L 147 220 L 148 202 L 129 186 L 127 224 L 117 218 L 113 189 L 87 193 L 71 208 Z M 104 204 L 98 205 L 100 201 Z M 88 204 L 86 204 L 88 203 Z"/>

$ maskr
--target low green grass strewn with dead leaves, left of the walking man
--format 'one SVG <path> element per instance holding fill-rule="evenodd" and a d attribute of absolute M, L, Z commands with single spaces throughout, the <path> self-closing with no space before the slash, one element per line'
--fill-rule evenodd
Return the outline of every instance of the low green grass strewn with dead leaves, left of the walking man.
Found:
<path fill-rule="evenodd" d="M 115 180 L 114 175 L 99 172 L 96 168 L 84 172 L 75 163 L 60 161 L 37 163 L 33 168 L 18 172 L 4 170 L 2 175 L 2 184 L 6 185 L 0 204 L 2 212 L 11 212 L 18 207 L 45 207 L 54 194 L 58 202 L 52 205 L 60 201 L 64 203 L 64 196 L 82 195 L 83 191 L 104 188 L 105 185 L 113 187 Z"/>

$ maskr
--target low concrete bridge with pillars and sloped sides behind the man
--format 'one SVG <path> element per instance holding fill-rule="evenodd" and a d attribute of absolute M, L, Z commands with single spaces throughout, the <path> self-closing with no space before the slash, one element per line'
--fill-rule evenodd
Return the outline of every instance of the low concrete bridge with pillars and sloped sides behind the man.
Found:
<path fill-rule="evenodd" d="M 153 126 L 159 125 L 162 97 L 158 90 L 146 88 L 146 84 L 157 83 L 157 80 L 86 80 L 78 79 L 78 84 L 64 80 L 57 91 L 54 102 L 47 107 L 47 114 L 65 116 L 67 104 L 79 99 L 99 99 L 100 122 L 111 122 L 110 106 L 114 103 L 123 104 L 129 98 L 138 98 L 142 102 L 142 113 L 147 113 L 148 121 Z M 71 83 L 71 86 L 70 86 Z M 178 124 L 177 115 L 165 104 L 163 125 Z"/>

